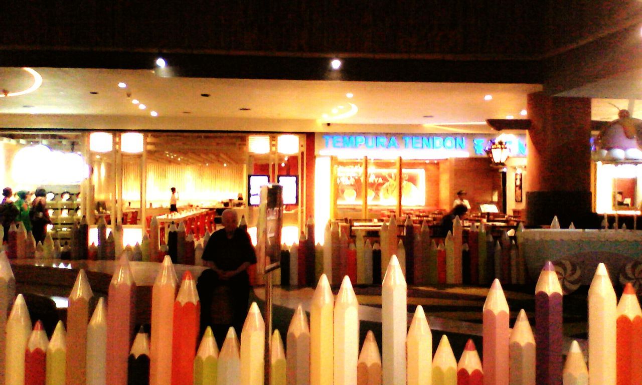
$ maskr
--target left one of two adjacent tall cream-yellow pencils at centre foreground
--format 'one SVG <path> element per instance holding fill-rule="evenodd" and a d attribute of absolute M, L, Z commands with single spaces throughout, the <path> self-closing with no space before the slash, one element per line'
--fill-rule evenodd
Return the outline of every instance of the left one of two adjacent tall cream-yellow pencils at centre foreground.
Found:
<path fill-rule="evenodd" d="M 310 304 L 310 384 L 332 385 L 334 380 L 334 297 L 325 274 L 319 278 Z"/>

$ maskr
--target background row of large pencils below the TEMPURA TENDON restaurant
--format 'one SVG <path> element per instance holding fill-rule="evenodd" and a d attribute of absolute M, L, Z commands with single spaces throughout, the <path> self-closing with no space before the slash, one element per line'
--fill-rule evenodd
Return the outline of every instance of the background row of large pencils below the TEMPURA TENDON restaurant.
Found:
<path fill-rule="evenodd" d="M 392 255 L 396 255 L 408 284 L 482 284 L 494 278 L 508 284 L 525 284 L 526 267 L 522 250 L 523 225 L 511 239 L 501 232 L 494 239 L 485 225 L 473 223 L 464 239 L 464 226 L 458 217 L 453 232 L 445 238 L 431 237 L 428 223 L 415 225 L 406 216 L 403 230 L 395 216 L 383 223 L 379 241 L 366 239 L 356 229 L 354 243 L 347 223 L 330 220 L 325 225 L 324 244 L 316 244 L 314 223 L 308 219 L 299 243 L 283 245 L 282 271 L 273 276 L 273 284 L 313 286 L 325 273 L 333 286 L 345 275 L 356 284 L 381 284 Z M 262 283 L 262 282 L 259 282 Z"/>

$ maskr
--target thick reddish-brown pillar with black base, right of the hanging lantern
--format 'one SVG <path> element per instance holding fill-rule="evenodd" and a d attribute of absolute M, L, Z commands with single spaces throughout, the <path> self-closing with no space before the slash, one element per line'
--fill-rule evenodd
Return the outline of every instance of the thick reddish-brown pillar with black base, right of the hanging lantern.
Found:
<path fill-rule="evenodd" d="M 562 227 L 591 213 L 591 99 L 528 95 L 526 222 Z"/>

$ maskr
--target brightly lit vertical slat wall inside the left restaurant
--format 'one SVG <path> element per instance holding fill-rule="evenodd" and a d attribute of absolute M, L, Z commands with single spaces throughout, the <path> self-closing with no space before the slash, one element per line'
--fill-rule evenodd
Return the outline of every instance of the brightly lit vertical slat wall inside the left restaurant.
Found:
<path fill-rule="evenodd" d="M 123 164 L 123 199 L 138 203 L 140 196 L 140 169 L 138 162 Z M 214 201 L 235 199 L 243 193 L 245 175 L 242 164 L 210 166 L 179 166 L 150 162 L 147 165 L 147 201 L 154 207 L 169 206 L 170 187 L 176 187 L 178 205 L 200 205 Z"/>

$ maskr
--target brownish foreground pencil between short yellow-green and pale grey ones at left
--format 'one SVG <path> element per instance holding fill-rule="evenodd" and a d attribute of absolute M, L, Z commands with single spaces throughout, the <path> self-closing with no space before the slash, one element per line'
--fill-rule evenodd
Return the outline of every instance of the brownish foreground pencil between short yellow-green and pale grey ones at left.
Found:
<path fill-rule="evenodd" d="M 87 383 L 87 325 L 89 323 L 89 301 L 94 293 L 89 286 L 87 274 L 80 269 L 67 307 L 67 341 L 72 347 L 67 352 L 67 385 Z"/>

